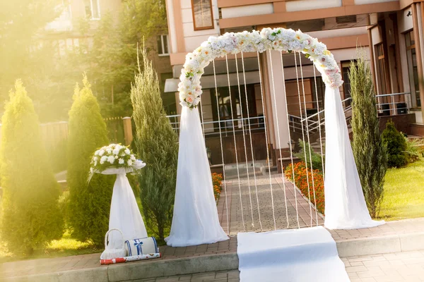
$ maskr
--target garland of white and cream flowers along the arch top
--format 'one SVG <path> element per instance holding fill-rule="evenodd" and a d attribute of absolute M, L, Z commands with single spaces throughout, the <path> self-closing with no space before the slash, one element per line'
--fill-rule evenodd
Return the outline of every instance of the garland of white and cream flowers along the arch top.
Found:
<path fill-rule="evenodd" d="M 201 46 L 186 56 L 184 68 L 181 71 L 178 91 L 182 106 L 190 109 L 196 108 L 200 102 L 201 85 L 200 78 L 204 68 L 217 57 L 225 54 L 237 54 L 243 52 L 259 51 L 268 49 L 277 51 L 298 51 L 305 54 L 314 62 L 318 71 L 322 73 L 322 79 L 326 85 L 339 87 L 343 84 L 340 68 L 333 54 L 326 49 L 326 45 L 317 38 L 310 37 L 300 30 L 294 31 L 285 28 L 266 27 L 261 32 L 229 32 L 220 37 L 209 37 Z"/>

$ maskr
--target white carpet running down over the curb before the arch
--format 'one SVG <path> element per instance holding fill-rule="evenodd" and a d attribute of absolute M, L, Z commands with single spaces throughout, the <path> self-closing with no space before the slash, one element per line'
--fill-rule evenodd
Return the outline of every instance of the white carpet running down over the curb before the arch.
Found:
<path fill-rule="evenodd" d="M 336 242 L 322 226 L 238 233 L 240 281 L 350 281 Z"/>

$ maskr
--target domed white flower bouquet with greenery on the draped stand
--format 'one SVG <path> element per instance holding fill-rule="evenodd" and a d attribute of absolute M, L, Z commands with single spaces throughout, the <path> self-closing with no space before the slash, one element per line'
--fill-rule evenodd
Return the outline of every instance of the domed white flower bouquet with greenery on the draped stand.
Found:
<path fill-rule="evenodd" d="M 95 151 L 91 159 L 90 180 L 94 173 L 119 174 L 132 173 L 146 166 L 143 161 L 136 159 L 131 150 L 120 144 L 110 144 Z"/>

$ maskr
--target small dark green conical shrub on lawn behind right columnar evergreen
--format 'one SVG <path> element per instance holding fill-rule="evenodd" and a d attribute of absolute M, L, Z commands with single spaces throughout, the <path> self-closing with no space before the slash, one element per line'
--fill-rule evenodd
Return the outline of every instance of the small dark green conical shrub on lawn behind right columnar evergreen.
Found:
<path fill-rule="evenodd" d="M 389 167 L 403 167 L 408 164 L 406 156 L 406 140 L 402 133 L 394 127 L 393 121 L 386 123 L 382 137 L 387 144 L 388 165 Z"/>

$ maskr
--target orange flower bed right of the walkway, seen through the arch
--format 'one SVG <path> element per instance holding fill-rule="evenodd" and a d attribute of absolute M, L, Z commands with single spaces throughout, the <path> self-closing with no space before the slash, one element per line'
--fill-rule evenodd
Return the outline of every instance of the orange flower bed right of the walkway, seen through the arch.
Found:
<path fill-rule="evenodd" d="M 322 172 L 318 169 L 314 169 L 314 186 L 312 185 L 312 172 L 310 168 L 305 167 L 305 162 L 300 161 L 294 165 L 295 171 L 295 185 L 299 188 L 302 195 L 310 199 L 312 204 L 315 204 L 318 212 L 324 214 L 324 178 Z M 285 177 L 293 182 L 293 168 L 289 164 L 285 168 Z M 309 193 L 307 180 L 309 178 Z M 314 189 L 315 188 L 315 197 Z"/>

